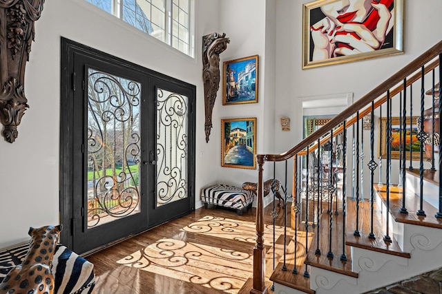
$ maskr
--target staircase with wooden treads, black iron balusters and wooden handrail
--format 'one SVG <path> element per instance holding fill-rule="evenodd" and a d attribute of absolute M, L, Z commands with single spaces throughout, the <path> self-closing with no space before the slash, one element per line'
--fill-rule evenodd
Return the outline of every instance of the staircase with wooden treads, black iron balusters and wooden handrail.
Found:
<path fill-rule="evenodd" d="M 441 63 L 442 41 L 289 151 L 257 156 L 250 293 L 367 293 L 442 267 Z M 371 123 L 363 131 L 365 116 Z M 376 128 L 378 120 L 386 123 Z M 338 146 L 340 160 L 332 156 Z M 293 179 L 291 196 L 285 195 L 286 202 L 293 197 L 285 237 L 294 237 L 273 260 L 270 288 L 265 268 L 272 264 L 265 264 L 262 239 L 266 162 L 273 162 L 273 174 L 284 174 L 285 191 Z"/>

